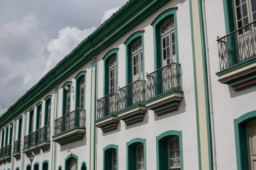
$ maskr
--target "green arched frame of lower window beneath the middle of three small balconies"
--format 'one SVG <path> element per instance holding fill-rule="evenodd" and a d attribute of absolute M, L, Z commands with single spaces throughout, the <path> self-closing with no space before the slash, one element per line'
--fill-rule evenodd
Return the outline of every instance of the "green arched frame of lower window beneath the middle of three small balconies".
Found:
<path fill-rule="evenodd" d="M 135 138 L 126 143 L 126 170 L 137 170 L 137 146 L 143 144 L 144 170 L 147 170 L 146 139 Z"/>

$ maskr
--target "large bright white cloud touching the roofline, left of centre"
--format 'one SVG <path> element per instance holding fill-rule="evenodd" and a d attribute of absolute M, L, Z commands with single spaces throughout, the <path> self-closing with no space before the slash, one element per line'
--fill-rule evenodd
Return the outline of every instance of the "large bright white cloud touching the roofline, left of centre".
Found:
<path fill-rule="evenodd" d="M 94 30 L 96 30 L 96 27 L 80 30 L 76 27 L 69 26 L 59 30 L 58 38 L 48 42 L 47 51 L 49 52 L 49 58 L 47 59 L 42 76 L 55 67 L 61 59 L 76 48 L 76 46 Z"/>

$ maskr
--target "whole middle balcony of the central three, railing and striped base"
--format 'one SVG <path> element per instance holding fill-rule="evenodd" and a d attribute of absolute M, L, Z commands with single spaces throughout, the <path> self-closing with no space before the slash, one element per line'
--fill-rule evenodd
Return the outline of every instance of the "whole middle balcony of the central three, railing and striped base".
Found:
<path fill-rule="evenodd" d="M 127 126 L 143 122 L 145 109 L 145 80 L 138 79 L 119 89 L 117 119 Z"/>

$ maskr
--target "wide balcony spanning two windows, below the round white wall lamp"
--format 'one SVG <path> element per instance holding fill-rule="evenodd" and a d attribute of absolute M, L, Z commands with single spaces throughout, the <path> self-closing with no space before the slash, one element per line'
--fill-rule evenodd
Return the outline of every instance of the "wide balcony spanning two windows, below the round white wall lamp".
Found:
<path fill-rule="evenodd" d="M 85 110 L 76 109 L 55 120 L 52 141 L 60 145 L 80 141 L 85 131 Z"/>

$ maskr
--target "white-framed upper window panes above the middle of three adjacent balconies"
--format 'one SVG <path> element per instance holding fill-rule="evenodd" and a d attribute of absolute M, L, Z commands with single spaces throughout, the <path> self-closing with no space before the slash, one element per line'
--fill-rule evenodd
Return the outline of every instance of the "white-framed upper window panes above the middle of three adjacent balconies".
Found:
<path fill-rule="evenodd" d="M 132 57 L 132 81 L 143 79 L 143 47 L 142 40 L 138 40 L 131 46 Z"/>

